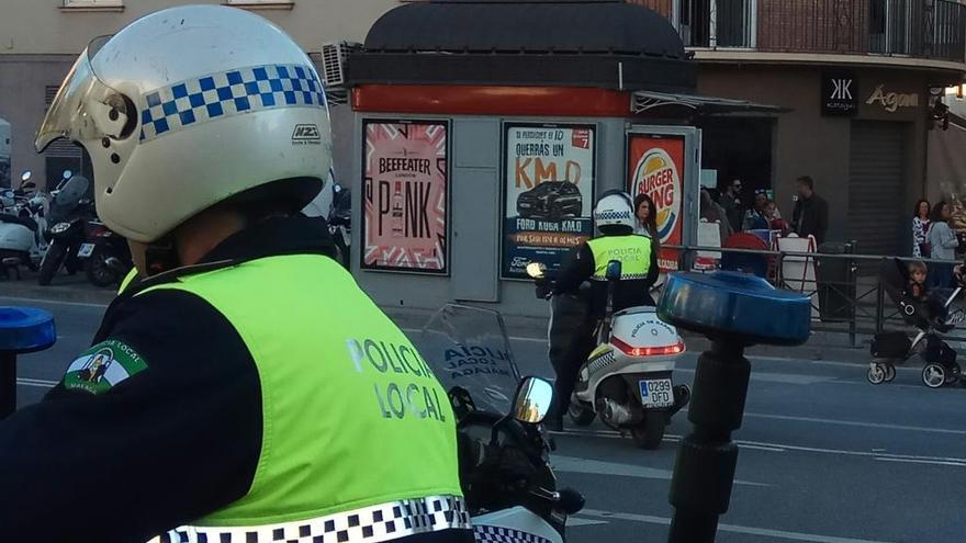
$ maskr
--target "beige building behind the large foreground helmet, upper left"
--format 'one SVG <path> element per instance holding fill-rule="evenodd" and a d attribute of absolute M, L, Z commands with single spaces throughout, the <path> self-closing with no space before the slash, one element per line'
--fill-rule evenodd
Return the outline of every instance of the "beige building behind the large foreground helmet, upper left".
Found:
<path fill-rule="evenodd" d="M 188 3 L 235 5 L 284 29 L 319 64 L 324 43 L 361 42 L 395 0 L 4 0 L 0 5 L 0 120 L 10 123 L 10 172 L 32 170 L 35 180 L 59 181 L 64 169 L 89 174 L 79 147 L 58 142 L 44 155 L 33 148 L 46 106 L 77 55 L 97 36 L 112 34 L 157 10 Z M 337 5 L 336 5 L 337 4 Z M 342 177 L 351 132 L 345 108 L 333 108 L 336 176 Z M 5 138 L 4 138 L 5 139 Z M 4 142 L 0 142 L 4 143 Z M 9 185 L 8 179 L 0 184 Z M 16 181 L 14 181 L 15 184 Z"/>

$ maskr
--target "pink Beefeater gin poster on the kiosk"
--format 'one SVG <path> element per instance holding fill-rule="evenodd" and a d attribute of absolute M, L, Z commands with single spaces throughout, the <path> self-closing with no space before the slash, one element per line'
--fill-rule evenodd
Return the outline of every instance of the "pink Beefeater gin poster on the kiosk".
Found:
<path fill-rule="evenodd" d="M 362 129 L 362 268 L 447 273 L 447 123 L 367 121 Z"/>

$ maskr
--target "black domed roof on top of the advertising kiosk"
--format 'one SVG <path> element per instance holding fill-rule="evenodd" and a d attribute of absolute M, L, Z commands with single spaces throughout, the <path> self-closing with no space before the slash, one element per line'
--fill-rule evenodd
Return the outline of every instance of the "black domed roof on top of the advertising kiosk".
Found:
<path fill-rule="evenodd" d="M 350 86 L 519 84 L 689 92 L 671 23 L 638 4 L 430 1 L 395 8 L 349 55 Z"/>

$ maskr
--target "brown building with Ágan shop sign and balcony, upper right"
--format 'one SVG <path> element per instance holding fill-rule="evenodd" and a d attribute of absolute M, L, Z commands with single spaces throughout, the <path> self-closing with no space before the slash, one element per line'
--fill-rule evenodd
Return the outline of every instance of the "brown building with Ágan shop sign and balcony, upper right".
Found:
<path fill-rule="evenodd" d="M 704 128 L 717 181 L 772 189 L 791 213 L 795 180 L 829 201 L 829 240 L 908 254 L 926 174 L 933 100 L 966 72 L 958 0 L 636 0 L 664 14 L 699 63 L 698 92 L 786 108 Z M 746 191 L 748 192 L 748 191 Z M 750 194 L 745 194 L 750 196 Z"/>

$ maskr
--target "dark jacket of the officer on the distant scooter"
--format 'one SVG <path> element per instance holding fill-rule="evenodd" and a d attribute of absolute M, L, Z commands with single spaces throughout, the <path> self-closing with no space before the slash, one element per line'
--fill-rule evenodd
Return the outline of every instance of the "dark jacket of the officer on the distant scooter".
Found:
<path fill-rule="evenodd" d="M 628 241 L 637 238 L 637 235 L 628 234 Z M 570 261 L 564 264 L 555 278 L 553 292 L 555 294 L 577 293 L 581 283 L 589 281 L 594 276 L 596 262 L 594 252 L 588 244 L 582 244 L 572 254 Z M 651 250 L 651 267 L 645 279 L 621 280 L 614 291 L 614 310 L 619 312 L 628 307 L 641 305 L 654 305 L 651 297 L 651 286 L 658 281 L 661 273 L 658 267 L 658 250 Z M 591 314 L 594 317 L 603 317 L 607 307 L 607 284 L 603 281 L 594 281 L 591 285 Z"/>

